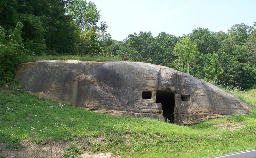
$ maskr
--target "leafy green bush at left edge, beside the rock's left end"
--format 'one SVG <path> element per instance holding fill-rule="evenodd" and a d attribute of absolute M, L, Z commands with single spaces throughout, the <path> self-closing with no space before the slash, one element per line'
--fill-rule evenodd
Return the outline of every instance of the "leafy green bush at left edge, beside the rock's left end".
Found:
<path fill-rule="evenodd" d="M 12 81 L 15 66 L 27 58 L 20 36 L 22 27 L 21 22 L 9 31 L 0 26 L 0 85 Z"/>

